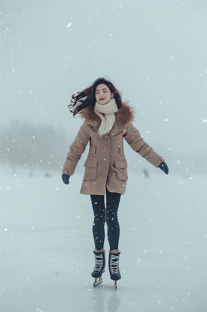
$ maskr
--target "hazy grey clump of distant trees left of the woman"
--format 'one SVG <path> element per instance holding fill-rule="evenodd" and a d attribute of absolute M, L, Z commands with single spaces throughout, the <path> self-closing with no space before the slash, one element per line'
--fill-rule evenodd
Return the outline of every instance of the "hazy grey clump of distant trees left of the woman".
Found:
<path fill-rule="evenodd" d="M 16 166 L 57 169 L 65 161 L 70 141 L 61 126 L 15 120 L 1 126 L 0 160 L 13 172 Z"/>

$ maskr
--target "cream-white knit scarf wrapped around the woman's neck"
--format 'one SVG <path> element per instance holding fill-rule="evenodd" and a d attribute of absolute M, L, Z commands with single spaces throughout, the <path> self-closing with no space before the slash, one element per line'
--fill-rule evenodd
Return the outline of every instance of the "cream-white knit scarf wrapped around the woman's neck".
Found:
<path fill-rule="evenodd" d="M 101 124 L 98 129 L 99 136 L 101 137 L 105 134 L 108 134 L 115 123 L 115 113 L 118 112 L 115 99 L 112 98 L 110 102 L 103 105 L 96 102 L 94 112 L 101 119 Z"/>

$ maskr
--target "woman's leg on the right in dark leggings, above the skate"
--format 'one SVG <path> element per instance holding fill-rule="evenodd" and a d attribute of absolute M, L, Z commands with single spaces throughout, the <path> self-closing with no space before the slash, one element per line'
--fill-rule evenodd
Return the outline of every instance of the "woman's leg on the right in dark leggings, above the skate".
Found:
<path fill-rule="evenodd" d="M 106 189 L 106 222 L 108 226 L 108 240 L 110 250 L 118 250 L 119 245 L 119 222 L 117 211 L 121 194 L 111 193 Z"/>

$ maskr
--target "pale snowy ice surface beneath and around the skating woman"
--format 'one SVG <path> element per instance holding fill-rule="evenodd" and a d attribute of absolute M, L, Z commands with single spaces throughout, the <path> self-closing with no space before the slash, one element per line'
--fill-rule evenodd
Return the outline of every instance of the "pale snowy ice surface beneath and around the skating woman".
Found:
<path fill-rule="evenodd" d="M 131 174 L 119 208 L 120 270 L 93 289 L 92 208 L 82 177 L 1 167 L 1 312 L 207 311 L 207 177 Z M 108 242 L 105 244 L 108 250 Z"/>

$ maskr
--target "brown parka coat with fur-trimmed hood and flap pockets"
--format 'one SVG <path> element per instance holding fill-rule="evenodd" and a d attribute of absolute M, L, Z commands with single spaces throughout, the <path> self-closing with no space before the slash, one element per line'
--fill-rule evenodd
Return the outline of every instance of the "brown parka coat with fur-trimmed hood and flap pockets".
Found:
<path fill-rule="evenodd" d="M 82 109 L 80 116 L 83 118 L 83 124 L 69 147 L 62 172 L 73 174 L 89 141 L 90 149 L 84 163 L 85 174 L 80 189 L 81 194 L 104 195 L 106 187 L 110 192 L 125 193 L 128 175 L 123 139 L 155 167 L 164 161 L 164 158 L 157 155 L 143 141 L 138 130 L 133 126 L 134 114 L 129 105 L 122 104 L 116 113 L 116 121 L 111 131 L 102 137 L 98 135 L 100 118 L 92 108 Z"/>

